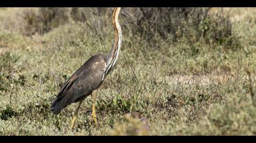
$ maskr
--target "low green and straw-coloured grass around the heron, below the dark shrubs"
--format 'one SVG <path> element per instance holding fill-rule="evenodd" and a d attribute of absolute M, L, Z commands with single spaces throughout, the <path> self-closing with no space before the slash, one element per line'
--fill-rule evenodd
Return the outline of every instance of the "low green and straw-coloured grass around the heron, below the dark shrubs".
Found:
<path fill-rule="evenodd" d="M 238 18 L 238 9 L 251 20 Z M 80 65 L 108 53 L 110 25 L 104 38 L 74 21 L 34 36 L 1 28 L 0 135 L 256 135 L 255 10 L 227 10 L 236 12 L 232 32 L 241 48 L 211 40 L 191 48 L 186 39 L 172 43 L 168 38 L 159 39 L 162 48 L 157 48 L 123 33 L 118 64 L 98 91 L 100 128 L 92 124 L 90 97 L 74 130 L 69 123 L 77 104 L 57 116 L 49 107 Z"/>

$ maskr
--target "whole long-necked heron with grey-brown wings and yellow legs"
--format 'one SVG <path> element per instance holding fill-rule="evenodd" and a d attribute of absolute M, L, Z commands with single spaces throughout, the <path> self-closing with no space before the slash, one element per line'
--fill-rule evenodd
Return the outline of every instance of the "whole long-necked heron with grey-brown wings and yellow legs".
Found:
<path fill-rule="evenodd" d="M 78 68 L 78 70 L 69 77 L 69 79 L 64 83 L 63 87 L 60 88 L 55 100 L 52 102 L 51 111 L 55 115 L 59 114 L 60 111 L 69 104 L 79 102 L 71 121 L 71 128 L 73 128 L 74 122 L 76 121 L 80 105 L 89 95 L 91 95 L 93 102 L 93 120 L 96 126 L 98 126 L 95 113 L 97 90 L 108 73 L 110 73 L 110 71 L 115 67 L 122 44 L 121 26 L 118 23 L 118 15 L 120 10 L 120 7 L 113 9 L 112 24 L 115 30 L 115 42 L 112 50 L 108 53 L 108 55 L 97 54 L 88 59 L 84 65 Z"/>

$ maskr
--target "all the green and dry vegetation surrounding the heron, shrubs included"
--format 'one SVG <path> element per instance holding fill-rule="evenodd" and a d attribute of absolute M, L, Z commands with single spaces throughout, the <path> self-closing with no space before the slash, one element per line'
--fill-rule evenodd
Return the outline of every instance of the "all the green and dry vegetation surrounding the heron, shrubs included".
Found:
<path fill-rule="evenodd" d="M 124 8 L 119 61 L 96 101 L 101 127 L 88 97 L 74 130 L 77 104 L 57 116 L 49 107 L 66 78 L 112 48 L 111 9 L 0 13 L 0 135 L 256 135 L 255 8 Z"/>

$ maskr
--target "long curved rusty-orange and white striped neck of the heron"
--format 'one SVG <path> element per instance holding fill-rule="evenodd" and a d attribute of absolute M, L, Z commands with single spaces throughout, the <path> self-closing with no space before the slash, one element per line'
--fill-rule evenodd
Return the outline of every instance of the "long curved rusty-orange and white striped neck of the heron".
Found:
<path fill-rule="evenodd" d="M 112 23 L 115 30 L 115 42 L 113 44 L 112 50 L 110 53 L 108 53 L 106 73 L 109 73 L 109 71 L 115 67 L 122 44 L 122 30 L 118 22 L 120 9 L 120 7 L 117 7 L 113 10 Z"/>

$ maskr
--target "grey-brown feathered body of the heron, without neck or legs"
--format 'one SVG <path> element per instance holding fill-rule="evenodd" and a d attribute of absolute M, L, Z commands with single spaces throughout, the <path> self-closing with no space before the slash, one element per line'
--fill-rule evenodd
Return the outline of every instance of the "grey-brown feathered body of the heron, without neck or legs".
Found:
<path fill-rule="evenodd" d="M 101 54 L 92 56 L 65 82 L 52 104 L 53 113 L 58 114 L 67 105 L 82 101 L 101 85 L 106 58 Z"/>

